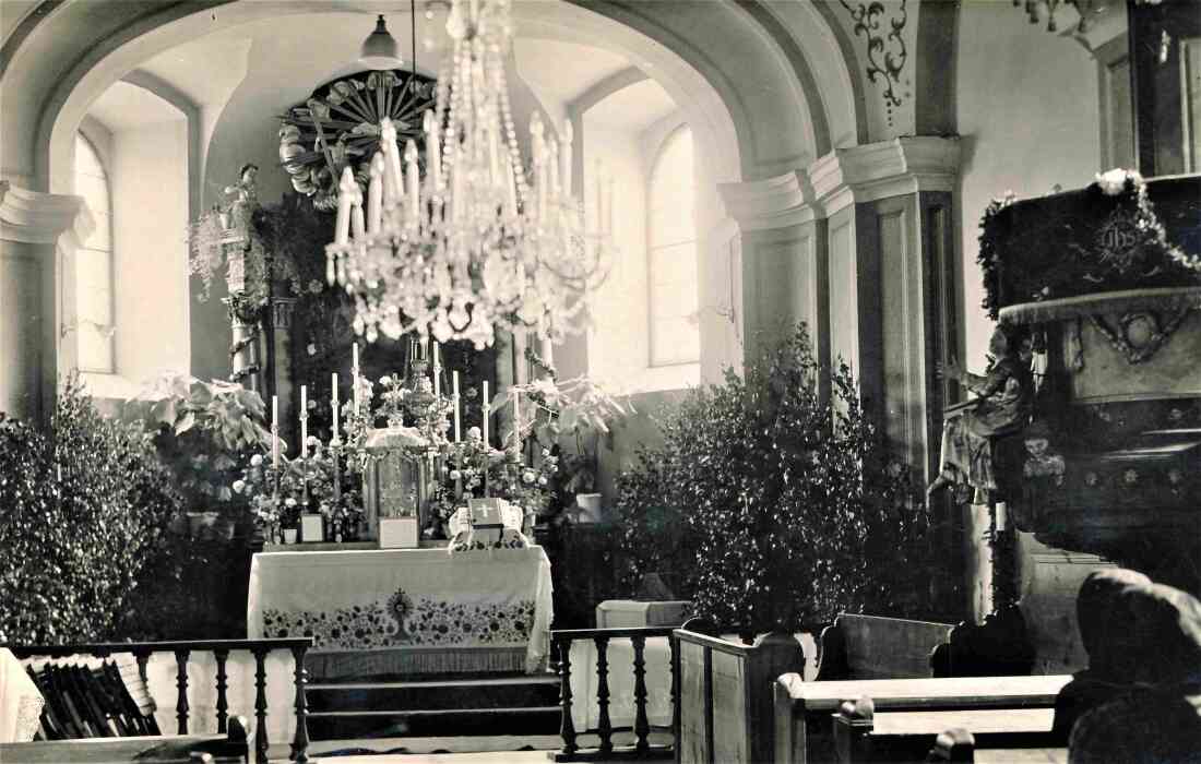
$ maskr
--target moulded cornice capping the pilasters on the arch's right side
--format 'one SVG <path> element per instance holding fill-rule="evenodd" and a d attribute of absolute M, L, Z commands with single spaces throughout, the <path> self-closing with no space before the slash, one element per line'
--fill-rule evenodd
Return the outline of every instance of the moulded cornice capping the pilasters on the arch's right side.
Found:
<path fill-rule="evenodd" d="M 919 191 L 952 191 L 958 138 L 916 136 L 835 149 L 805 169 L 718 185 L 742 231 L 765 231 L 827 217 L 856 202 Z"/>

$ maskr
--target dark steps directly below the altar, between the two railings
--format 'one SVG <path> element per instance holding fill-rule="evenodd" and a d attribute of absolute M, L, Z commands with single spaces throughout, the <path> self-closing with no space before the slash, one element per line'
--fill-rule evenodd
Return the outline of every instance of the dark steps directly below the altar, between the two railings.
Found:
<path fill-rule="evenodd" d="M 312 740 L 437 735 L 552 735 L 558 679 L 460 675 L 309 685 Z"/>

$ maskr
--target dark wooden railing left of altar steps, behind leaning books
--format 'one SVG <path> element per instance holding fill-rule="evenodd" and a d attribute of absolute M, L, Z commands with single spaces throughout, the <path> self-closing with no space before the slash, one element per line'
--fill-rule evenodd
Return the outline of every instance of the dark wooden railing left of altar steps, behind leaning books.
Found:
<path fill-rule="evenodd" d="M 305 685 L 309 684 L 309 673 L 304 668 L 305 653 L 312 647 L 311 637 L 288 639 L 198 639 L 185 641 L 114 641 L 114 643 L 78 643 L 65 645 L 7 645 L 18 658 L 49 657 L 61 658 L 73 655 L 88 655 L 97 658 L 107 658 L 113 655 L 130 653 L 138 664 L 138 675 L 147 682 L 147 664 L 150 656 L 156 652 L 173 652 L 175 655 L 175 686 L 178 688 L 175 700 L 175 720 L 179 726 L 179 734 L 187 734 L 187 722 L 191 709 L 187 704 L 187 661 L 192 652 L 211 652 L 217 664 L 216 674 L 216 715 L 217 732 L 227 732 L 229 703 L 226 696 L 228 690 L 228 676 L 226 674 L 226 662 L 229 652 L 234 650 L 246 650 L 255 656 L 255 756 L 258 764 L 267 764 L 267 655 L 277 650 L 286 650 L 292 653 L 295 662 L 295 705 L 297 716 L 295 735 L 292 740 L 291 758 L 304 764 L 309 760 L 309 705 L 305 700 Z"/>

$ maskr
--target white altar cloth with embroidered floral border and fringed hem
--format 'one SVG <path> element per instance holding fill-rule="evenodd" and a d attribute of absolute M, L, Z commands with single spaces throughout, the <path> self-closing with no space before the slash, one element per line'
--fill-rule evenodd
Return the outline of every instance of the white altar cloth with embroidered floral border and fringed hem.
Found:
<path fill-rule="evenodd" d="M 312 637 L 315 676 L 545 669 L 542 547 L 275 551 L 250 568 L 251 639 Z"/>

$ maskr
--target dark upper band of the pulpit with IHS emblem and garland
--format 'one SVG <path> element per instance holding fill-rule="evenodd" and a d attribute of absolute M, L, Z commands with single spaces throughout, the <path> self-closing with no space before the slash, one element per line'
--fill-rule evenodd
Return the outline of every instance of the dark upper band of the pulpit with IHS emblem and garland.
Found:
<path fill-rule="evenodd" d="M 1188 240 L 1193 208 L 1172 211 L 1171 225 Z M 1146 180 L 1129 169 L 1099 173 L 1082 191 L 1036 201 L 1017 202 L 1006 191 L 985 209 L 979 244 L 981 305 L 994 321 L 1014 303 L 1201 283 L 1201 256 L 1169 240 Z"/>

